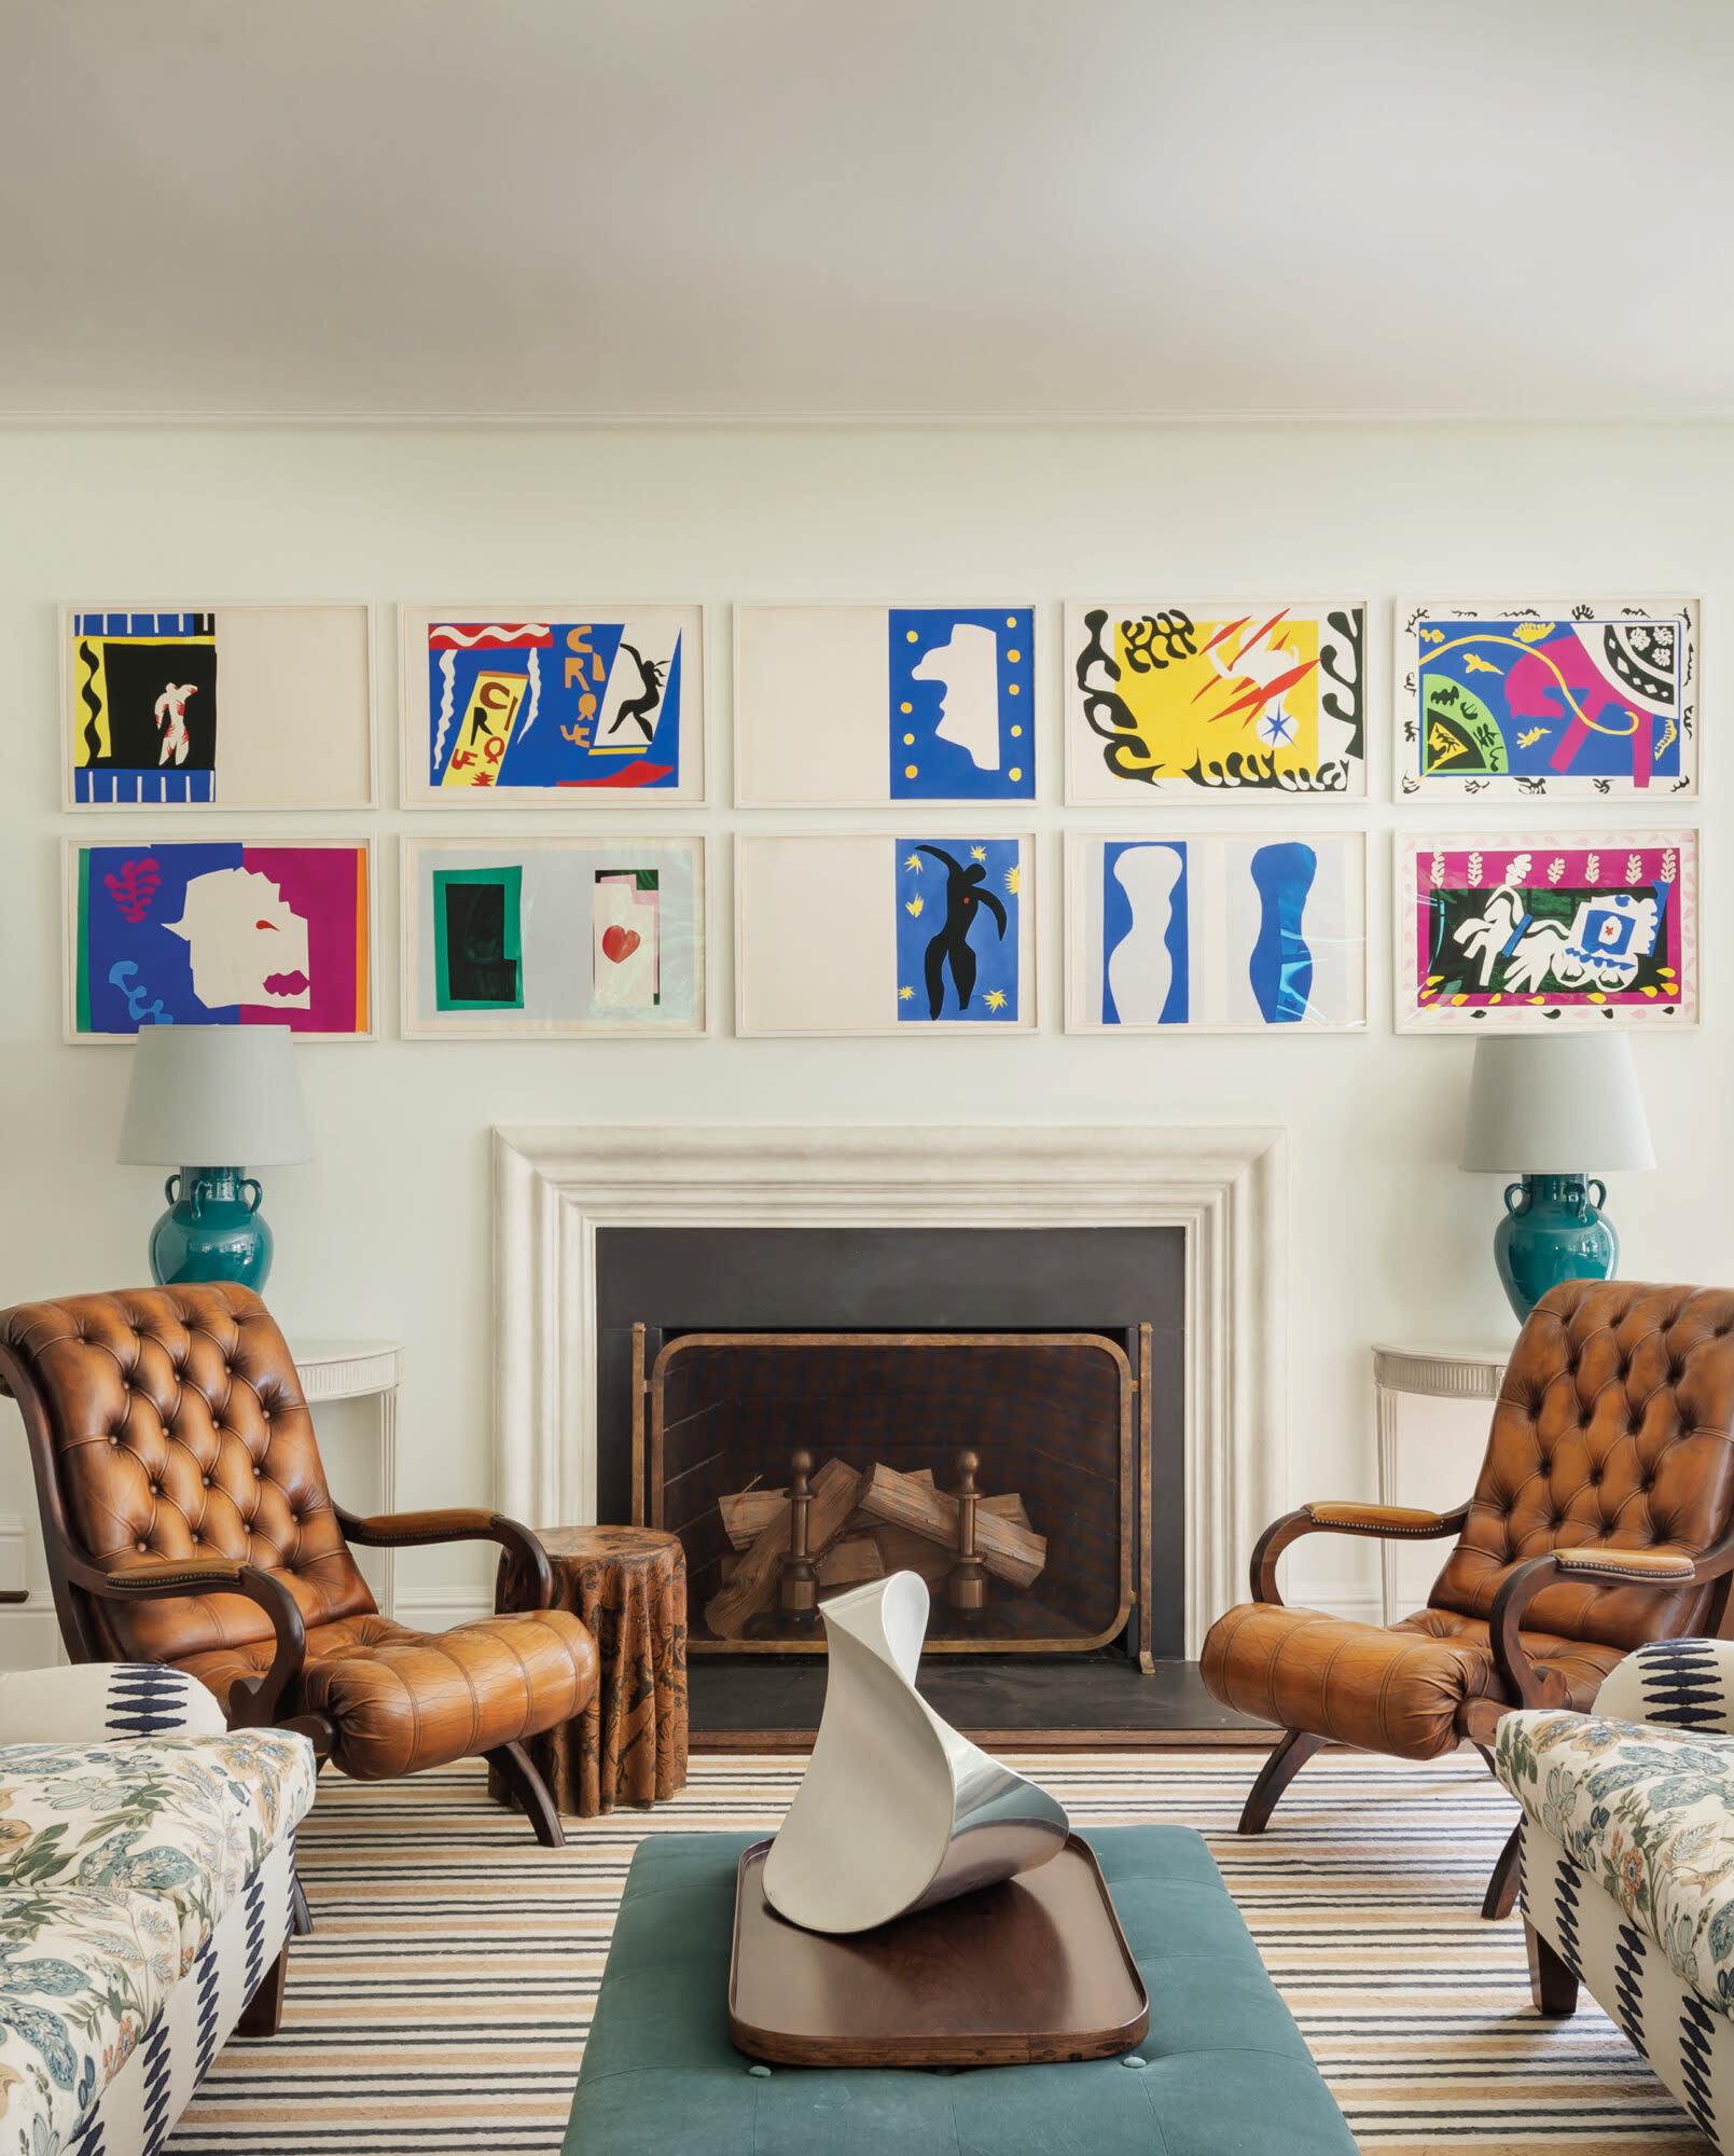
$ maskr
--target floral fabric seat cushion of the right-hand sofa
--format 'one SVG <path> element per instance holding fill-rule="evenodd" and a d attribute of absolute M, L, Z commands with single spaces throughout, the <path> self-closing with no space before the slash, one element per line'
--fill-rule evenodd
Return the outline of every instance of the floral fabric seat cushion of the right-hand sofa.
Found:
<path fill-rule="evenodd" d="M 1495 1768 L 1585 1887 L 1734 2016 L 1734 1738 L 1529 1710 L 1499 1723 Z"/>

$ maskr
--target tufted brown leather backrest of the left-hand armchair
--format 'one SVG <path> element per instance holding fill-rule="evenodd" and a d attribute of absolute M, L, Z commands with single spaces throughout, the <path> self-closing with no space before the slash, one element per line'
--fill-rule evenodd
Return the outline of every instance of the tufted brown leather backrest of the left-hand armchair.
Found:
<path fill-rule="evenodd" d="M 37 1477 L 106 1570 L 231 1557 L 280 1574 L 308 1626 L 373 1611 L 336 1524 L 295 1365 L 248 1287 L 140 1287 L 0 1313 L 0 1345 L 43 1412 Z M 52 1529 L 50 1529 L 52 1531 Z M 119 1660 L 177 1662 L 270 1639 L 239 1595 L 123 1606 L 82 1598 Z"/>

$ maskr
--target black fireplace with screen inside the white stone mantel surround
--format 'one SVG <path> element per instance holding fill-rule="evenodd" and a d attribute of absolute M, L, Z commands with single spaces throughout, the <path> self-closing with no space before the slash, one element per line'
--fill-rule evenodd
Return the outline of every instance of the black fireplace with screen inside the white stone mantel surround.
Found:
<path fill-rule="evenodd" d="M 813 1600 L 876 1561 L 923 1572 L 921 1682 L 958 1729 L 1201 1727 L 1184 1662 L 1184 1231 L 742 1227 L 682 1220 L 682 1203 L 595 1231 L 595 1516 L 682 1535 L 694 1740 L 817 1727 L 824 1626 L 781 1593 L 796 1453 L 822 1531 Z M 1001 1559 L 981 1561 L 979 1613 L 953 1598 L 964 1453 L 977 1557 L 996 1542 Z M 820 1507 L 839 1503 L 839 1473 L 873 1468 L 876 1509 L 843 1492 L 832 1533 Z M 720 1632 L 707 1611 L 776 1507 L 774 1591 L 748 1576 L 753 1606 L 725 1604 Z M 1037 1570 L 1007 1574 L 994 1518 L 1035 1537 Z M 1009 1542 L 1016 1574 L 1031 1546 Z"/>

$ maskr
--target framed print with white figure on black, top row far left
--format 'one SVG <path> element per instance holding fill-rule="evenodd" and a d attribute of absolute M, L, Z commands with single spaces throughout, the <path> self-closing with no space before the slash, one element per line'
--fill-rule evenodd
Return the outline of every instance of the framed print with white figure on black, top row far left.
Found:
<path fill-rule="evenodd" d="M 367 606 L 60 608 L 69 808 L 369 808 Z"/>

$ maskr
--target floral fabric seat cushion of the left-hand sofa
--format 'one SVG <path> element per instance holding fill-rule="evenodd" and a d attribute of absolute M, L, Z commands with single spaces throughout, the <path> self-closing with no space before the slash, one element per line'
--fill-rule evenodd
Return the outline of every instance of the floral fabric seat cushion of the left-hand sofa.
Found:
<path fill-rule="evenodd" d="M 313 1805 L 280 1729 L 0 1746 L 0 2156 L 41 2156 Z"/>

